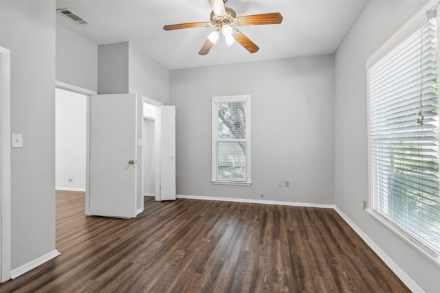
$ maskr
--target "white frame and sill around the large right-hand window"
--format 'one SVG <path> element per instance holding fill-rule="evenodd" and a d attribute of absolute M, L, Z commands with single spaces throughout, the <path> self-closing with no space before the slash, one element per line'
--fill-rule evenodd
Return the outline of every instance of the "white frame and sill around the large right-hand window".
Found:
<path fill-rule="evenodd" d="M 438 5 L 439 5 L 438 0 L 429 1 L 426 5 L 423 6 L 423 8 L 419 12 L 417 12 L 417 14 L 415 14 L 415 16 L 412 17 L 412 19 L 410 19 L 403 27 L 401 27 L 401 29 L 396 34 L 394 34 L 386 43 L 384 43 L 384 45 L 382 45 L 382 47 L 380 47 L 380 49 L 375 51 L 375 53 L 370 58 L 368 58 L 368 60 L 366 62 L 367 73 L 368 73 L 369 68 L 371 68 L 373 65 L 375 65 L 376 62 L 381 60 L 386 54 L 388 54 L 388 52 L 392 51 L 403 40 L 408 38 L 408 36 L 412 35 L 414 32 L 419 30 L 421 25 L 423 25 L 423 23 L 426 23 L 426 21 L 427 21 L 426 20 L 427 11 L 433 10 L 436 7 L 437 7 L 437 39 L 440 40 L 440 38 L 439 38 L 440 19 L 439 19 Z M 440 49 L 440 44 L 437 46 L 437 50 L 439 50 L 439 49 Z M 437 52 L 437 56 L 440 56 L 440 54 L 438 52 Z M 368 74 L 367 74 L 367 104 L 369 103 L 368 91 L 369 91 L 369 80 L 368 80 Z M 369 108 L 367 108 L 367 109 L 369 110 Z M 367 115 L 367 127 L 368 127 L 367 133 L 368 133 L 368 135 L 370 135 L 370 131 L 369 131 L 370 130 L 370 121 L 369 121 L 370 113 L 367 113 L 367 114 L 368 114 Z M 370 139 L 368 138 L 368 140 L 369 140 L 369 152 L 368 152 L 369 153 L 369 160 L 368 160 L 369 161 L 369 207 L 373 207 L 373 204 L 372 204 L 373 182 L 372 182 L 372 178 L 371 178 L 371 159 L 372 158 L 371 158 Z M 437 266 L 437 268 L 440 268 L 440 255 L 433 252 L 432 250 L 430 250 L 429 248 L 427 248 L 423 244 L 417 242 L 415 239 L 410 237 L 410 235 L 408 235 L 408 233 L 401 230 L 401 228 L 399 228 L 399 226 L 395 225 L 394 223 L 392 223 L 391 221 L 386 219 L 384 216 L 382 216 L 377 211 L 373 210 L 372 208 L 367 208 L 365 210 L 369 213 L 369 215 L 371 215 L 372 218 L 377 220 L 377 222 L 380 222 L 380 224 L 382 224 L 384 227 L 388 228 L 388 230 L 390 230 L 397 237 L 399 237 L 401 240 L 406 242 L 406 244 L 408 244 L 408 246 L 412 247 L 415 251 L 417 251 L 423 257 L 428 259 L 428 261 L 430 261 L 432 264 L 434 264 L 434 266 Z"/>

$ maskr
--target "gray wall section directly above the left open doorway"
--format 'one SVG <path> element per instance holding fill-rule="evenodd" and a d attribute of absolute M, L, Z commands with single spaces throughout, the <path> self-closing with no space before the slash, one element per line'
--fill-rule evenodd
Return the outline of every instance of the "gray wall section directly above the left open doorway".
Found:
<path fill-rule="evenodd" d="M 56 23 L 56 80 L 98 91 L 98 45 Z"/>

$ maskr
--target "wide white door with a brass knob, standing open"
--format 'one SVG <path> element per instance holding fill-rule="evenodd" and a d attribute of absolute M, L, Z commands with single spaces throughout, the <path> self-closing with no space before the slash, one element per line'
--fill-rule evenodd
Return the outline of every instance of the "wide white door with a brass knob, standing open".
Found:
<path fill-rule="evenodd" d="M 91 95 L 87 215 L 133 218 L 141 162 L 140 99 L 133 94 Z"/>

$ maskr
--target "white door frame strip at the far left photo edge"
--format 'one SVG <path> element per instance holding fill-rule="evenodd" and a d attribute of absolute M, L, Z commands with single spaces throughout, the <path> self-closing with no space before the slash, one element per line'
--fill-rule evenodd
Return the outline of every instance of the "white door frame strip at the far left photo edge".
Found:
<path fill-rule="evenodd" d="M 10 50 L 0 47 L 0 283 L 11 279 Z"/>

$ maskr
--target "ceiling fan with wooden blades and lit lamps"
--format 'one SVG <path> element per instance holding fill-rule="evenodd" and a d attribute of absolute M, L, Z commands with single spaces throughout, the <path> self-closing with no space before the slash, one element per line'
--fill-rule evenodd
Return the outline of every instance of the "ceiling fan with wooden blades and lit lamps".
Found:
<path fill-rule="evenodd" d="M 241 25 L 272 25 L 283 21 L 283 16 L 281 16 L 279 12 L 237 17 L 234 10 L 225 7 L 226 2 L 228 2 L 228 0 L 210 0 L 212 12 L 209 23 L 199 22 L 165 25 L 164 30 L 180 30 L 190 27 L 214 27 L 214 32 L 209 34 L 205 44 L 201 47 L 199 51 L 200 55 L 206 55 L 209 53 L 212 46 L 217 43 L 220 34 L 223 34 L 225 37 L 226 45 L 233 45 L 235 41 L 237 41 L 250 53 L 255 53 L 260 49 L 259 46 L 255 45 L 252 40 L 235 27 Z"/>

